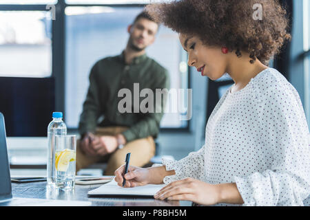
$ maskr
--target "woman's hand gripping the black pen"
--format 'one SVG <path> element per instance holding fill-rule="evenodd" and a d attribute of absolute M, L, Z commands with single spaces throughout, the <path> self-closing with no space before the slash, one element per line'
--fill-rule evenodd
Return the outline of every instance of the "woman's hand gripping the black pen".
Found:
<path fill-rule="evenodd" d="M 123 173 L 125 165 L 118 168 L 115 172 L 115 181 L 118 186 L 123 186 Z M 149 169 L 137 166 L 128 166 L 128 172 L 125 174 L 126 183 L 124 187 L 143 186 L 149 184 Z"/>

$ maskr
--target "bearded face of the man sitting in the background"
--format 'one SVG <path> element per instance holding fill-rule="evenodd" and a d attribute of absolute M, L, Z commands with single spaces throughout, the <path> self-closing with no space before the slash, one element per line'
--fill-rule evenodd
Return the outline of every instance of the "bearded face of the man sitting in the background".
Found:
<path fill-rule="evenodd" d="M 158 25 L 154 21 L 138 19 L 136 23 L 128 27 L 130 48 L 138 52 L 145 50 L 146 47 L 154 43 L 157 30 Z"/>

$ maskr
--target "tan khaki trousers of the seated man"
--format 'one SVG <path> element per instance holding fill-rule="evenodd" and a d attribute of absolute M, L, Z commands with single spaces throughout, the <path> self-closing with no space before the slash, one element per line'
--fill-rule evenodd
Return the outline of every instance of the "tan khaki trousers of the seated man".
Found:
<path fill-rule="evenodd" d="M 125 131 L 127 127 L 109 126 L 99 127 L 96 129 L 95 135 L 116 135 Z M 144 166 L 155 155 L 155 142 L 153 137 L 145 137 L 142 139 L 127 142 L 122 149 L 117 149 L 113 153 L 104 156 L 89 156 L 81 151 L 81 140 L 76 143 L 76 171 L 82 168 L 87 168 L 91 164 L 99 162 L 107 162 L 107 167 L 104 170 L 104 175 L 114 175 L 114 171 L 125 164 L 127 153 L 130 155 L 130 165 Z"/>

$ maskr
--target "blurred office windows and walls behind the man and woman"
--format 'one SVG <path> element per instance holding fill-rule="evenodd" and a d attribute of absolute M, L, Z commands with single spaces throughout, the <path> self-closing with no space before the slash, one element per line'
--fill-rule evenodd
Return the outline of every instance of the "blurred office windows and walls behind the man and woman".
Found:
<path fill-rule="evenodd" d="M 78 134 L 92 65 L 105 56 L 121 54 L 128 39 L 127 25 L 146 3 L 0 1 L 0 111 L 6 119 L 12 165 L 44 163 L 52 111 L 62 111 L 68 133 Z M 310 0 L 282 3 L 291 17 L 293 38 L 270 66 L 297 89 L 310 124 Z M 171 88 L 192 89 L 192 103 L 185 97 L 185 111 L 164 115 L 156 140 L 158 156 L 180 159 L 203 146 L 209 115 L 233 81 L 228 75 L 211 81 L 188 67 L 178 34 L 163 25 L 147 55 L 169 70 Z M 188 111 L 192 118 L 180 120 Z"/>

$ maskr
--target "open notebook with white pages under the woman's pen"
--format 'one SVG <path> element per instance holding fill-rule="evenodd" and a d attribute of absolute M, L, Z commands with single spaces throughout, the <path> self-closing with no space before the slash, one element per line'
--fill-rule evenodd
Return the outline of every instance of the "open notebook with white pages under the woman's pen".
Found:
<path fill-rule="evenodd" d="M 132 195 L 132 196 L 149 196 L 152 197 L 163 188 L 165 184 L 147 184 L 145 186 L 136 186 L 132 188 L 123 188 L 118 186 L 113 179 L 107 184 L 94 190 L 90 190 L 87 195 Z"/>

